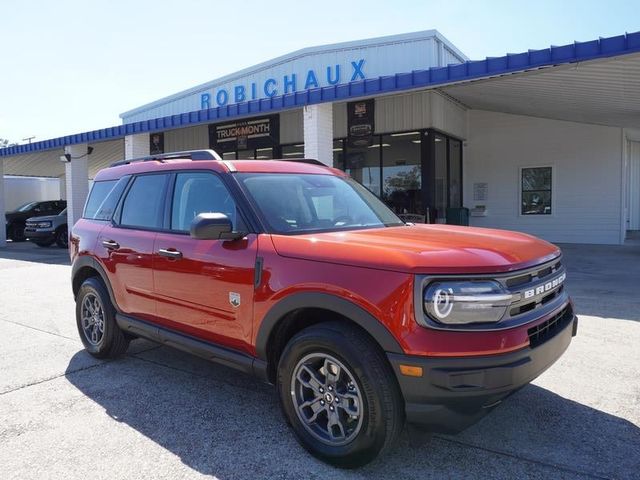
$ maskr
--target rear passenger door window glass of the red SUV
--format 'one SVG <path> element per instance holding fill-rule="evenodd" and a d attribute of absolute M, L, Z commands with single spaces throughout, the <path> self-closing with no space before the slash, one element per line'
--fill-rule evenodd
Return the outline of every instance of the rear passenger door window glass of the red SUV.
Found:
<path fill-rule="evenodd" d="M 168 175 L 164 174 L 136 177 L 122 204 L 120 224 L 127 227 L 160 229 L 167 178 Z"/>

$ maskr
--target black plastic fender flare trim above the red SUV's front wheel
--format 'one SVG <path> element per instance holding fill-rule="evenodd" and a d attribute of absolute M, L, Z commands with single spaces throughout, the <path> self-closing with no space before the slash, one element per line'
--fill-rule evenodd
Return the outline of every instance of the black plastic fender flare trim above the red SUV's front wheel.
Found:
<path fill-rule="evenodd" d="M 328 293 L 300 292 L 280 300 L 262 319 L 256 336 L 256 354 L 259 359 L 268 360 L 269 337 L 278 322 L 288 313 L 302 308 L 318 308 L 338 313 L 364 329 L 385 352 L 404 353 L 387 327 L 362 307 Z"/>

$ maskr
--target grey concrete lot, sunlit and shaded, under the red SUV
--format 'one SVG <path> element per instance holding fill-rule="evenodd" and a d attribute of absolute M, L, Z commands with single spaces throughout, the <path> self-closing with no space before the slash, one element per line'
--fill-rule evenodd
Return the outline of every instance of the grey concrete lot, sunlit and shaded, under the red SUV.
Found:
<path fill-rule="evenodd" d="M 565 356 L 477 425 L 356 471 L 310 457 L 273 389 L 146 341 L 82 350 L 66 251 L 0 249 L 0 478 L 639 478 L 640 247 L 565 246 Z"/>

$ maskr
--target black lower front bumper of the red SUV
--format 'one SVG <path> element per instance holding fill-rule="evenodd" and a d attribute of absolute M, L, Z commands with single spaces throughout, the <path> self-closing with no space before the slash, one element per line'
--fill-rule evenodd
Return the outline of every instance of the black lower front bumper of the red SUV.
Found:
<path fill-rule="evenodd" d="M 563 315 L 546 340 L 516 352 L 447 358 L 387 353 L 405 399 L 407 422 L 440 433 L 458 433 L 477 422 L 560 358 L 578 327 L 571 306 Z M 422 367 L 422 376 L 402 375 L 401 364 Z"/>

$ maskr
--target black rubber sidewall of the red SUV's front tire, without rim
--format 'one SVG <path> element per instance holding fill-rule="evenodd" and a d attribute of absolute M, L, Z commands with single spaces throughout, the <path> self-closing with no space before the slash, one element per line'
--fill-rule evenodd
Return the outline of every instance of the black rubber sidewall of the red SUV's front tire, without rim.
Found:
<path fill-rule="evenodd" d="M 331 334 L 330 330 L 326 334 L 319 334 L 320 332 L 321 330 L 314 329 L 313 332 L 298 334 L 282 354 L 277 388 L 283 414 L 302 445 L 313 455 L 344 467 L 352 466 L 351 463 L 366 463 L 376 456 L 386 438 L 388 427 L 385 425 L 381 404 L 383 392 L 380 385 L 371 381 L 375 378 L 374 372 L 360 360 L 358 352 L 344 336 L 336 335 L 335 332 Z M 326 353 L 338 359 L 351 371 L 360 389 L 364 418 L 360 432 L 346 445 L 331 446 L 320 442 L 306 430 L 296 413 L 291 395 L 291 377 L 300 359 L 310 353 Z M 354 461 L 357 457 L 359 459 Z"/>

